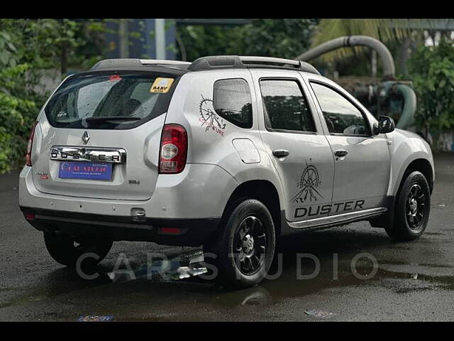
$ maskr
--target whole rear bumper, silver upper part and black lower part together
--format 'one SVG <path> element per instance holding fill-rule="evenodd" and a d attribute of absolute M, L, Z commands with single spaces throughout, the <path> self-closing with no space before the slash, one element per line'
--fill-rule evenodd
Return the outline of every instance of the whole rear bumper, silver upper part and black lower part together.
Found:
<path fill-rule="evenodd" d="M 218 166 L 187 164 L 182 173 L 159 175 L 149 200 L 121 200 L 121 193 L 108 200 L 41 193 L 32 172 L 26 166 L 19 176 L 19 205 L 35 216 L 28 222 L 36 229 L 167 245 L 203 244 L 238 185 Z M 172 228 L 180 230 L 172 233 Z"/>

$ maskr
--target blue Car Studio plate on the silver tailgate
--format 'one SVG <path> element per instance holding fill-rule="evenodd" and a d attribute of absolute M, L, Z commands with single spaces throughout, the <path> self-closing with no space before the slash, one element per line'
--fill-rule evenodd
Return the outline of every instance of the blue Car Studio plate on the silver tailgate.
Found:
<path fill-rule="evenodd" d="M 62 179 L 112 180 L 112 163 L 60 161 Z"/>

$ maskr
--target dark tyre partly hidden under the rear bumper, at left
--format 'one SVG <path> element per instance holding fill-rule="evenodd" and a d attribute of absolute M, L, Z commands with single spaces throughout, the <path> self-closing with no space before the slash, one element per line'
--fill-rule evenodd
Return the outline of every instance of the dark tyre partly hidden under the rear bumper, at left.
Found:
<path fill-rule="evenodd" d="M 73 239 L 44 232 L 44 242 L 50 256 L 57 263 L 74 268 L 82 254 L 92 253 L 82 260 L 81 267 L 95 266 L 109 253 L 113 242 L 109 239 Z"/>

